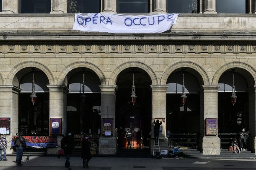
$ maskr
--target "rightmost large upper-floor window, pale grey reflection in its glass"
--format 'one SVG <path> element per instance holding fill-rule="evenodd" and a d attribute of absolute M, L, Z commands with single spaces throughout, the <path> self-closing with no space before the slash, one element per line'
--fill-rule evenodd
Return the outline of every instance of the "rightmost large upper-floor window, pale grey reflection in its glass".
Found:
<path fill-rule="evenodd" d="M 216 11 L 219 14 L 246 14 L 247 4 L 247 0 L 216 0 Z"/>

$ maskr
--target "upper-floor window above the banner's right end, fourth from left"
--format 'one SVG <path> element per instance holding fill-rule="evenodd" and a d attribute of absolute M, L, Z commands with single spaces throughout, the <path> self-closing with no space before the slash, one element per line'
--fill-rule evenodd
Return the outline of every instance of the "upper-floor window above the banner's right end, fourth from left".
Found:
<path fill-rule="evenodd" d="M 194 14 L 199 13 L 198 0 L 166 0 L 167 13 Z"/>

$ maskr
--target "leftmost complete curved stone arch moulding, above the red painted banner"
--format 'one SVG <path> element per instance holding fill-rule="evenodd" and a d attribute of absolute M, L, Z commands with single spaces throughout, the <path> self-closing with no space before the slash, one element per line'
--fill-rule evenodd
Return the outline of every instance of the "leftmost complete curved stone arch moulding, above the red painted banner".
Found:
<path fill-rule="evenodd" d="M 49 84 L 50 85 L 55 85 L 55 81 L 54 81 L 54 78 L 52 76 L 51 71 L 45 65 L 41 64 L 40 62 L 36 62 L 36 61 L 26 61 L 26 62 L 21 62 L 18 65 L 15 65 L 14 68 L 10 71 L 9 75 L 7 76 L 6 84 L 7 85 L 12 85 L 15 75 L 21 69 L 28 68 L 28 67 L 35 67 L 35 68 L 38 68 L 41 71 L 43 71 L 44 74 L 46 74 L 46 76 L 49 80 Z"/>

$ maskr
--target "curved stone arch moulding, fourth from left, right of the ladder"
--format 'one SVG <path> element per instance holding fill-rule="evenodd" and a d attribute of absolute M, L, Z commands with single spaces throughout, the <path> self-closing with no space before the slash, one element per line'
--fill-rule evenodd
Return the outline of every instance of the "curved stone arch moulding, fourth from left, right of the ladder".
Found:
<path fill-rule="evenodd" d="M 206 71 L 204 70 L 204 68 L 202 68 L 200 65 L 198 65 L 194 62 L 189 62 L 189 61 L 177 62 L 177 63 L 171 65 L 169 68 L 167 68 L 166 71 L 163 73 L 163 76 L 161 77 L 160 85 L 166 85 L 167 79 L 172 74 L 172 72 L 177 70 L 178 68 L 184 68 L 184 67 L 192 68 L 193 70 L 195 70 L 201 76 L 201 77 L 198 77 L 195 75 L 197 77 L 198 81 L 200 79 L 202 79 L 200 82 L 201 84 L 209 85 L 209 77 L 208 77 Z"/>

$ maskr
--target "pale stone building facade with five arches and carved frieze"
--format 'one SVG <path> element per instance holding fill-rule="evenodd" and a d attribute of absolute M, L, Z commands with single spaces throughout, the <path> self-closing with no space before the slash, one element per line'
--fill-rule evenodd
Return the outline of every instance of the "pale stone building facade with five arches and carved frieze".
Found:
<path fill-rule="evenodd" d="M 205 135 L 205 119 L 218 118 L 219 79 L 235 68 L 248 85 L 250 149 L 255 152 L 256 16 L 252 1 L 249 14 L 218 14 L 215 0 L 201 0 L 199 14 L 180 14 L 171 30 L 161 34 L 105 34 L 72 30 L 74 14 L 67 14 L 66 0 L 52 0 L 50 14 L 19 14 L 18 0 L 2 0 L 0 117 L 11 118 L 8 138 L 18 132 L 20 77 L 30 68 L 48 78 L 49 118 L 62 118 L 62 133 L 67 131 L 70 71 L 88 68 L 99 77 L 101 117 L 109 112 L 115 128 L 116 81 L 122 71 L 140 68 L 148 74 L 152 118 L 166 119 L 168 77 L 186 68 L 200 84 L 200 150 L 220 154 L 220 138 Z M 101 12 L 116 13 L 116 1 L 102 0 Z M 165 0 L 151 0 L 150 13 L 166 13 Z M 162 139 L 160 147 L 167 148 L 166 134 Z M 101 136 L 99 154 L 115 153 L 116 138 Z"/>

